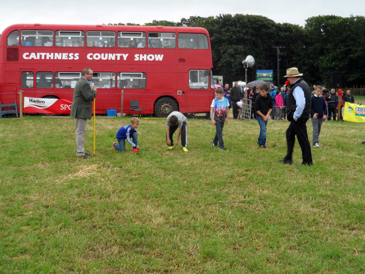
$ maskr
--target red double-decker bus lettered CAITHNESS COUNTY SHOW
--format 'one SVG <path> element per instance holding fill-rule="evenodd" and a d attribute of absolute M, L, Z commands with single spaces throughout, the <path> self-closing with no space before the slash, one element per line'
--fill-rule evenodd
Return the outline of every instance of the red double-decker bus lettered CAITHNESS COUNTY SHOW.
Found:
<path fill-rule="evenodd" d="M 138 100 L 143 114 L 203 113 L 214 98 L 207 30 L 195 27 L 16 24 L 0 37 L 0 102 L 24 96 L 72 101 L 85 67 L 96 113 Z"/>

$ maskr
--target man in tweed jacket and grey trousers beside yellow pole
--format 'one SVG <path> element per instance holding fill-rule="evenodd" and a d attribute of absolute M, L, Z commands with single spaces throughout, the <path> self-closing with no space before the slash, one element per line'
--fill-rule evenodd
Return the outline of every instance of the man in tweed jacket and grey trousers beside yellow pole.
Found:
<path fill-rule="evenodd" d="M 81 78 L 77 81 L 73 90 L 73 99 L 70 116 L 75 118 L 76 123 L 76 148 L 77 157 L 90 158 L 90 154 L 85 152 L 86 120 L 91 119 L 92 100 L 96 97 L 96 87 L 91 89 L 89 81 L 92 78 L 92 69 L 84 68 Z"/>

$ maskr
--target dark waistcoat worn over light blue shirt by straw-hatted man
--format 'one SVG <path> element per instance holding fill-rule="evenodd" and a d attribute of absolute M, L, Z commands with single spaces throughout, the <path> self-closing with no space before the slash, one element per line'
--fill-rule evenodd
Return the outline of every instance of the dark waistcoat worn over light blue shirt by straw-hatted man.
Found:
<path fill-rule="evenodd" d="M 294 112 L 296 110 L 296 100 L 293 96 L 293 91 L 294 91 L 295 87 L 301 87 L 302 90 L 304 91 L 304 98 L 306 99 L 306 106 L 304 107 L 303 113 L 300 115 L 298 120 L 306 122 L 309 119 L 310 114 L 311 114 L 312 101 L 311 101 L 311 91 L 309 89 L 309 86 L 303 79 L 299 79 L 298 81 L 296 81 L 296 83 L 293 84 L 290 88 L 288 98 L 287 98 L 287 118 L 288 118 L 289 122 L 292 121 Z"/>

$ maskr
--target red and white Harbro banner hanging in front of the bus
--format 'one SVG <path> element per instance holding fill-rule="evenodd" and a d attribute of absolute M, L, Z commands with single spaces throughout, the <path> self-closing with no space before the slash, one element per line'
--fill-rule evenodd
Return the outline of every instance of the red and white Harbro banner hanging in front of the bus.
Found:
<path fill-rule="evenodd" d="M 71 104 L 64 99 L 24 97 L 23 113 L 70 114 Z"/>

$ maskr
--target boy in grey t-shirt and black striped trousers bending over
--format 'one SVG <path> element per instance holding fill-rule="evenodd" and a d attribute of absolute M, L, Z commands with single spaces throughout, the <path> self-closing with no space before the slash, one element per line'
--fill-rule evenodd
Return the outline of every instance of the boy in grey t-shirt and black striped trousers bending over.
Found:
<path fill-rule="evenodd" d="M 175 145 L 179 144 L 179 137 L 181 134 L 181 145 L 183 146 L 183 151 L 188 152 L 188 132 L 186 129 L 187 118 L 178 111 L 173 111 L 169 114 L 166 119 L 166 143 L 169 146 L 167 149 L 174 148 L 173 134 L 177 129 L 177 136 Z"/>

